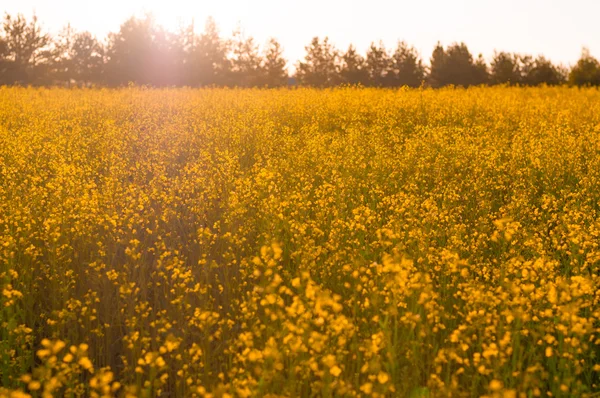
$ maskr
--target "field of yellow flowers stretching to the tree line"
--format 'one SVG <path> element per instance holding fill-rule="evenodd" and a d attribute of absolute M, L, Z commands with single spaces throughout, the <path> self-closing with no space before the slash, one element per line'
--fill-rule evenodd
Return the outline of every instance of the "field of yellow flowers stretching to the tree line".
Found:
<path fill-rule="evenodd" d="M 0 396 L 600 395 L 600 91 L 0 89 Z"/>

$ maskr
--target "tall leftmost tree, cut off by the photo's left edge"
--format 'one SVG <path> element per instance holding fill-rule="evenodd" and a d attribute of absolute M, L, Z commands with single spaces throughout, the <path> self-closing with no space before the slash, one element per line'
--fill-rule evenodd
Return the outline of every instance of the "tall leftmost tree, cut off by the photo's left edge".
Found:
<path fill-rule="evenodd" d="M 22 14 L 6 14 L 2 28 L 0 84 L 46 83 L 50 36 L 42 32 L 37 17 L 27 21 Z"/>

